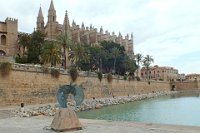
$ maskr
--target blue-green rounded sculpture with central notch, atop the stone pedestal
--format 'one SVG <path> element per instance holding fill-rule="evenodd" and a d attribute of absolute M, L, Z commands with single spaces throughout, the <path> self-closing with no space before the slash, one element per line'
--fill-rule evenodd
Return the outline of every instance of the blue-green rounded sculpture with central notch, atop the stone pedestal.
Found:
<path fill-rule="evenodd" d="M 60 86 L 57 93 L 57 100 L 62 108 L 67 108 L 67 98 L 69 94 L 74 96 L 76 106 L 80 105 L 84 100 L 84 92 L 80 86 L 72 84 Z"/>

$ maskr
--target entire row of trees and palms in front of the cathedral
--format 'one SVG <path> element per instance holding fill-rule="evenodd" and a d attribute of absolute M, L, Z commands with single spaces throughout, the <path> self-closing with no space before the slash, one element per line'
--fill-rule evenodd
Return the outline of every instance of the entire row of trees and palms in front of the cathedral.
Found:
<path fill-rule="evenodd" d="M 62 63 L 66 68 L 66 58 L 71 65 L 83 71 L 96 71 L 124 75 L 134 74 L 136 61 L 130 58 L 123 46 L 118 43 L 103 41 L 98 45 L 74 43 L 68 34 L 61 34 L 56 40 L 45 40 L 45 34 L 34 31 L 30 38 L 24 35 L 19 38 L 20 45 L 27 48 L 27 62 L 51 64 Z M 61 51 L 63 51 L 61 53 Z"/>

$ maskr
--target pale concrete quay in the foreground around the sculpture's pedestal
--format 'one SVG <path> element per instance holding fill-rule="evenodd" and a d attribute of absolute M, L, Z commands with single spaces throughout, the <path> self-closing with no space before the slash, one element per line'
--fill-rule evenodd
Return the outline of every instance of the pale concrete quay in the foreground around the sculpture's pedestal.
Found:
<path fill-rule="evenodd" d="M 10 117 L 0 119 L 1 133 L 54 133 L 50 130 L 53 117 Z M 199 133 L 200 127 L 144 124 L 81 119 L 84 128 L 69 133 Z"/>

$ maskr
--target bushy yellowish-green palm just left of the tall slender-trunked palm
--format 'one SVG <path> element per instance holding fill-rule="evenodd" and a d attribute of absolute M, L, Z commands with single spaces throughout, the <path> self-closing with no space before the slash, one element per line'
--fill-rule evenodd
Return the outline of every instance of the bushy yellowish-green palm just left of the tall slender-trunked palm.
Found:
<path fill-rule="evenodd" d="M 51 66 L 61 63 L 61 51 L 58 45 L 53 41 L 46 41 L 42 49 L 42 62 L 44 64 L 50 63 Z"/>

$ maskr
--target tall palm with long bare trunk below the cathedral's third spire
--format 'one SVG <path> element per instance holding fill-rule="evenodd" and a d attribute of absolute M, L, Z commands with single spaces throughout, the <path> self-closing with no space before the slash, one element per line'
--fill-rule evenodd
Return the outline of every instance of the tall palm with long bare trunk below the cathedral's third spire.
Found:
<path fill-rule="evenodd" d="M 71 36 L 68 32 L 65 32 L 63 34 L 60 34 L 57 38 L 58 44 L 60 44 L 62 46 L 63 49 L 63 56 L 64 56 L 64 69 L 66 69 L 66 65 L 67 65 L 67 54 L 66 54 L 66 49 L 69 49 L 69 47 L 72 44 L 71 41 Z"/>

